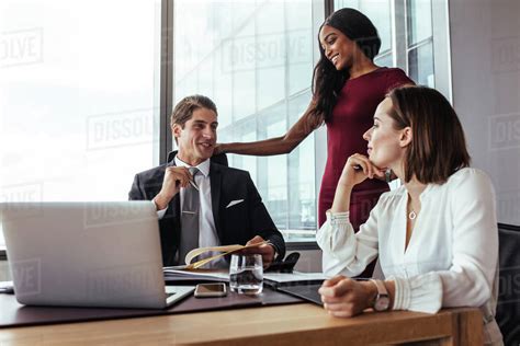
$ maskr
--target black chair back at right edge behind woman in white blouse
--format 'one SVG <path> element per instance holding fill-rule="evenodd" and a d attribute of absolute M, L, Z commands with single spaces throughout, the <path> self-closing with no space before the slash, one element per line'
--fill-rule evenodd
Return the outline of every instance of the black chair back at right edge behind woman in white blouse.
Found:
<path fill-rule="evenodd" d="M 499 288 L 496 320 L 505 345 L 520 345 L 520 227 L 498 224 Z"/>

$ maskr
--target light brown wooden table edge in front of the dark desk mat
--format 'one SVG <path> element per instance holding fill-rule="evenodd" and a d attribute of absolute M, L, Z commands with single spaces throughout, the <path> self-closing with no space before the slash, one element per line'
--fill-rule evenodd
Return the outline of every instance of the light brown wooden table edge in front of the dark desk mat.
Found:
<path fill-rule="evenodd" d="M 308 304 L 0 330 L 0 345 L 481 345 L 477 309 L 366 312 L 337 319 Z M 430 345 L 430 344 L 429 344 Z"/>

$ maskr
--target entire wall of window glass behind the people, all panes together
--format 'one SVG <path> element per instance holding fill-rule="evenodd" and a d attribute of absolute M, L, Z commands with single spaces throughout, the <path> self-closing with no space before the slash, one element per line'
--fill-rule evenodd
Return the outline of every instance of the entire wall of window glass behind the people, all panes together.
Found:
<path fill-rule="evenodd" d="M 334 3 L 360 9 L 377 26 L 376 64 L 400 67 L 450 99 L 449 59 L 440 54 L 448 49 L 436 48 L 448 46 L 445 0 Z M 194 93 L 217 104 L 221 142 L 285 134 L 310 100 L 325 7 L 1 1 L 0 201 L 126 199 L 134 174 L 165 160 L 166 109 Z M 229 155 L 250 172 L 287 241 L 314 240 L 325 142 L 321 128 L 289 155 Z"/>

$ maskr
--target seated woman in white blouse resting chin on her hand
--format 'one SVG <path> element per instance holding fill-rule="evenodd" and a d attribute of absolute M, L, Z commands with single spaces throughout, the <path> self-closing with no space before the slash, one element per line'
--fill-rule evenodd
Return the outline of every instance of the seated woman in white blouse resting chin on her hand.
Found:
<path fill-rule="evenodd" d="M 501 344 L 495 322 L 498 230 L 495 192 L 487 175 L 468 168 L 461 123 L 438 91 L 392 91 L 363 138 L 368 154 L 343 168 L 327 221 L 317 233 L 325 309 L 353 316 L 366 308 L 434 313 L 442 307 L 479 307 L 486 344 Z M 352 187 L 384 176 L 403 185 L 381 196 L 370 218 L 353 232 Z M 386 280 L 350 279 L 376 256 Z"/>

